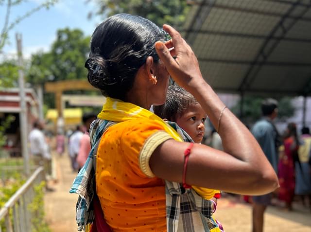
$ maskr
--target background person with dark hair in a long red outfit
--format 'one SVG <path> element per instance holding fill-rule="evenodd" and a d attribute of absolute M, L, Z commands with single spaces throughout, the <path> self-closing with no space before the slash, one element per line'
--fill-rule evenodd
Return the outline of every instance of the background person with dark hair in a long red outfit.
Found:
<path fill-rule="evenodd" d="M 283 142 L 284 149 L 280 152 L 278 162 L 278 180 L 280 183 L 278 198 L 285 201 L 285 209 L 292 210 L 292 202 L 295 190 L 295 167 L 294 162 L 298 160 L 299 140 L 296 124 L 289 123 Z"/>

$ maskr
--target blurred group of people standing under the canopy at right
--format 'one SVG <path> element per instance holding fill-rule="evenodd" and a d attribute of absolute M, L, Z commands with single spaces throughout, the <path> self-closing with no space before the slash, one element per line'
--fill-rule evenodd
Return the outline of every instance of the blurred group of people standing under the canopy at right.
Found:
<path fill-rule="evenodd" d="M 261 104 L 262 118 L 251 128 L 261 149 L 278 175 L 280 187 L 275 192 L 260 196 L 244 196 L 253 205 L 253 232 L 263 231 L 266 208 L 272 198 L 278 199 L 284 210 L 292 211 L 294 196 L 301 197 L 301 203 L 311 210 L 311 135 L 308 127 L 301 133 L 294 123 L 289 123 L 280 134 L 274 120 L 278 103 L 275 99 L 265 99 Z M 221 139 L 215 130 L 211 133 L 210 145 L 223 149 Z M 221 145 L 219 145 L 221 144 Z"/>

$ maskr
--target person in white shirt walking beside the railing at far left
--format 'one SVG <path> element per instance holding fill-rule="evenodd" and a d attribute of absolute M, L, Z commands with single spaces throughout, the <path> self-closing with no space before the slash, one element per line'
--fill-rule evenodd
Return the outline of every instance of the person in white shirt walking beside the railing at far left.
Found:
<path fill-rule="evenodd" d="M 46 174 L 50 173 L 49 170 L 51 162 L 51 153 L 49 150 L 49 145 L 46 143 L 46 138 L 43 133 L 44 124 L 40 121 L 35 121 L 33 125 L 33 129 L 29 134 L 29 142 L 30 142 L 30 152 L 32 154 L 34 163 L 36 166 L 43 166 L 43 176 L 46 180 Z M 48 186 L 48 182 L 46 180 L 46 190 L 53 191 L 52 188 Z"/>

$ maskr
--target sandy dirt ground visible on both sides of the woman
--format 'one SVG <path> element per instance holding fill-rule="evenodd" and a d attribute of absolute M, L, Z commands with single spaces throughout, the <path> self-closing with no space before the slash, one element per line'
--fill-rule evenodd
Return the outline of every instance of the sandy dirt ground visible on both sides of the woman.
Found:
<path fill-rule="evenodd" d="M 76 173 L 71 170 L 67 154 L 56 157 L 55 169 L 58 182 L 51 183 L 55 191 L 45 196 L 46 220 L 52 232 L 76 232 L 75 204 L 78 197 L 69 194 Z M 264 232 L 311 232 L 311 211 L 299 203 L 293 207 L 293 212 L 269 207 Z M 215 218 L 223 224 L 225 232 L 251 232 L 251 205 L 242 203 L 237 196 L 224 195 L 218 202 Z"/>

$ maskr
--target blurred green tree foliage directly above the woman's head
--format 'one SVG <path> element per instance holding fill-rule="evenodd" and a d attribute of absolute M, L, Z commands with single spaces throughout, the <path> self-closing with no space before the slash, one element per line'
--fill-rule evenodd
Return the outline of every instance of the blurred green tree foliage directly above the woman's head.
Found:
<path fill-rule="evenodd" d="M 90 0 L 89 0 L 90 1 Z M 187 0 L 93 0 L 97 7 L 95 15 L 111 16 L 128 13 L 148 18 L 156 25 L 164 23 L 180 27 L 189 11 Z M 94 13 L 89 13 L 92 17 Z"/>

